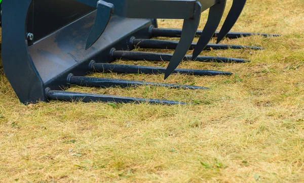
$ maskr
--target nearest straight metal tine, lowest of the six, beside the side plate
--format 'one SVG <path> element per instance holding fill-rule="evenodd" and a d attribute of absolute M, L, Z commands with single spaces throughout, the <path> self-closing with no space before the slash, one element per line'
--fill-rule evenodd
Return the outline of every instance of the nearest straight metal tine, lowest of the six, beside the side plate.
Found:
<path fill-rule="evenodd" d="M 149 104 L 187 104 L 185 102 L 158 100 L 158 99 L 142 99 L 133 97 L 123 96 L 112 96 L 112 95 L 100 95 L 100 94 L 89 94 L 79 93 L 73 91 L 61 91 L 61 90 L 47 90 L 48 100 L 54 101 L 81 101 L 81 102 L 117 102 L 117 103 L 149 103 Z"/>

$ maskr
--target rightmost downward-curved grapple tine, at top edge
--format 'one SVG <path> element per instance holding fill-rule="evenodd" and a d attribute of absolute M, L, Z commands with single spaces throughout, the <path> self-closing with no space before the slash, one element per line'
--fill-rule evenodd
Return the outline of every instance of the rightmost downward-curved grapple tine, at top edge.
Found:
<path fill-rule="evenodd" d="M 216 43 L 219 43 L 227 35 L 227 33 L 232 29 L 234 24 L 239 19 L 240 15 L 244 9 L 245 4 L 246 4 L 246 0 L 233 0 L 231 10 L 221 28 L 221 30 L 217 34 Z"/>

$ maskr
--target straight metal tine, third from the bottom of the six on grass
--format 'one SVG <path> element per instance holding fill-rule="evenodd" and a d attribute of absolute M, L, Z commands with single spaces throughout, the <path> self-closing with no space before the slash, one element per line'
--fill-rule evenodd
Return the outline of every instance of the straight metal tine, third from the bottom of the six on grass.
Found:
<path fill-rule="evenodd" d="M 115 72 L 128 74 L 164 74 L 166 72 L 165 67 L 95 63 L 95 61 L 91 61 L 90 66 L 95 72 Z M 231 72 L 195 69 L 175 69 L 172 73 L 200 76 L 232 75 Z"/>

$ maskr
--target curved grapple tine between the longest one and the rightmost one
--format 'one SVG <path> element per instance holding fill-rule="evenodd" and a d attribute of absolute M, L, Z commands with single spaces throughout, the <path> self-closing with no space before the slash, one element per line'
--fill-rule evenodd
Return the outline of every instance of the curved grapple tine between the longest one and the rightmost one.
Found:
<path fill-rule="evenodd" d="M 212 38 L 214 32 L 216 31 L 220 23 L 225 7 L 226 0 L 222 0 L 214 6 L 210 7 L 207 23 L 193 52 L 193 60 L 195 60 L 200 55 L 200 53 L 206 48 L 208 42 Z"/>

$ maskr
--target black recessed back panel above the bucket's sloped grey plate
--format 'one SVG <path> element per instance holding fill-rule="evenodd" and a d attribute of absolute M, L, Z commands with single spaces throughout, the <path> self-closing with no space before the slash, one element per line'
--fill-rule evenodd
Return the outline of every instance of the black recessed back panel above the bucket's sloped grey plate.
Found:
<path fill-rule="evenodd" d="M 9 0 L 10 1 L 10 0 Z M 35 0 L 29 6 L 26 30 L 34 34 L 34 40 L 89 14 L 96 9 L 74 0 Z M 24 7 L 25 8 L 25 7 Z"/>

